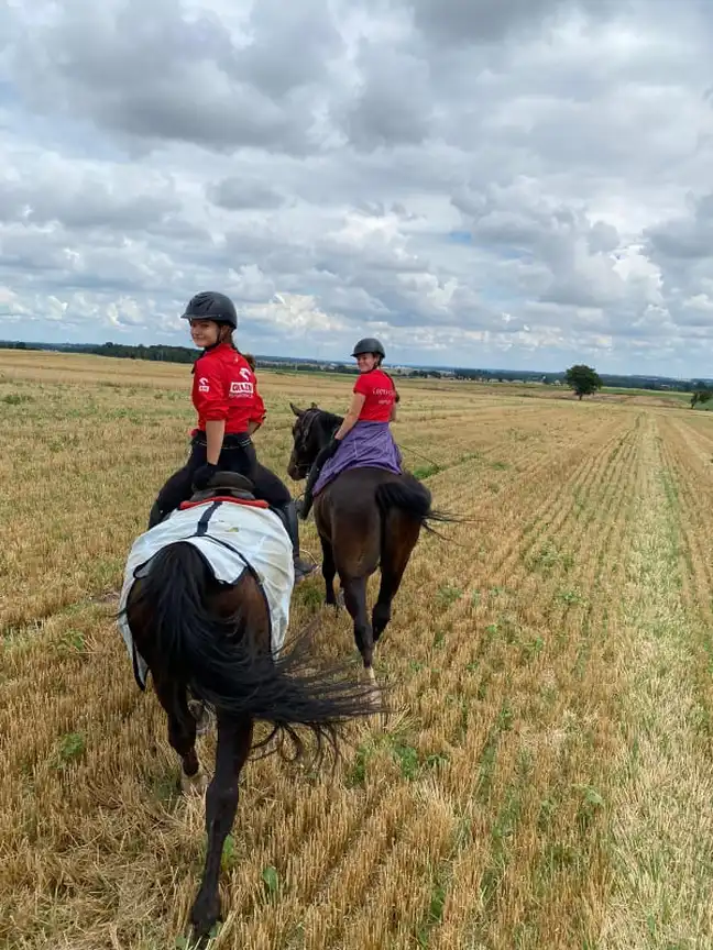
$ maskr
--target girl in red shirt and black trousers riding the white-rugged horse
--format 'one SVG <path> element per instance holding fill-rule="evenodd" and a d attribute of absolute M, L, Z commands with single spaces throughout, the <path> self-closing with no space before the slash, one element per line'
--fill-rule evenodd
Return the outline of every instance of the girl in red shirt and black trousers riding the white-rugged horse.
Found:
<path fill-rule="evenodd" d="M 151 509 L 153 528 L 195 489 L 206 488 L 219 468 L 250 478 L 255 496 L 284 515 L 293 544 L 295 581 L 316 570 L 299 556 L 299 530 L 295 502 L 279 478 L 261 465 L 252 434 L 265 420 L 265 406 L 257 393 L 257 380 L 250 363 L 233 343 L 238 314 L 224 294 L 196 294 L 188 301 L 184 319 L 190 336 L 202 353 L 193 368 L 193 405 L 198 421 L 191 434 L 188 461 L 163 486 Z"/>

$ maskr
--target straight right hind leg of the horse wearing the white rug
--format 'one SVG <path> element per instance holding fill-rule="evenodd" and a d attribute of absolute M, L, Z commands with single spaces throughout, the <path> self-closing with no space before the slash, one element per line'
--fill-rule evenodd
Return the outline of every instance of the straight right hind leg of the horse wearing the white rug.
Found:
<path fill-rule="evenodd" d="M 232 719 L 218 712 L 216 772 L 206 793 L 208 850 L 200 890 L 190 910 L 190 923 L 197 937 L 207 937 L 220 917 L 220 859 L 235 820 L 240 772 L 250 753 L 252 733 L 250 717 Z"/>

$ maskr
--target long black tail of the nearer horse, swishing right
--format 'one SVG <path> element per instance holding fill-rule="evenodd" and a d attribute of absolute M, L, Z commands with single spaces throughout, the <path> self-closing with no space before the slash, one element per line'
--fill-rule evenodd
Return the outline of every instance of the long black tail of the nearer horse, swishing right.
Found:
<path fill-rule="evenodd" d="M 251 583 L 251 575 L 243 577 L 239 583 Z M 339 726 L 383 710 L 374 686 L 347 678 L 347 666 L 314 667 L 308 631 L 276 659 L 250 650 L 250 601 L 220 619 L 207 607 L 212 589 L 216 582 L 193 544 L 169 544 L 155 555 L 140 594 L 144 616 L 152 618 L 155 655 L 172 680 L 217 711 L 271 722 L 275 728 L 257 744 L 281 733 L 299 755 L 304 747 L 294 727 L 303 726 L 315 734 L 318 753 L 323 740 L 336 752 Z"/>

